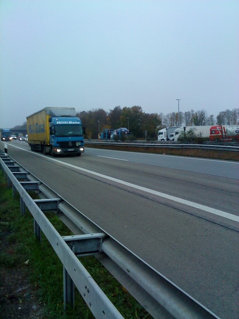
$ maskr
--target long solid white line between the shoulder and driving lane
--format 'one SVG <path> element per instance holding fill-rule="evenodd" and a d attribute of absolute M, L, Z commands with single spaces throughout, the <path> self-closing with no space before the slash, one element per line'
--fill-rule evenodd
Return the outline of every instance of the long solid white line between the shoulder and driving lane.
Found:
<path fill-rule="evenodd" d="M 94 171 L 90 171 L 88 169 L 85 169 L 85 168 L 82 168 L 82 167 L 78 167 L 78 166 L 75 166 L 75 165 L 72 165 L 72 164 L 68 164 L 68 163 L 62 162 L 62 161 L 60 161 L 58 159 L 53 159 L 51 157 L 45 156 L 43 154 L 39 154 L 39 153 L 35 153 L 35 152 L 32 152 L 32 151 L 24 150 L 24 149 L 22 149 L 22 148 L 20 148 L 18 146 L 15 146 L 15 145 L 11 145 L 11 146 L 19 148 L 20 150 L 25 151 L 25 152 L 30 152 L 30 153 L 32 153 L 34 155 L 38 155 L 38 156 L 47 158 L 47 159 L 52 160 L 52 161 L 54 161 L 56 163 L 63 164 L 65 166 L 69 166 L 71 168 L 78 169 L 78 170 L 83 171 L 85 173 L 93 174 L 93 175 L 96 175 L 98 177 L 105 178 L 105 179 L 107 179 L 109 181 L 116 182 L 116 183 L 119 183 L 119 184 L 122 184 L 122 185 L 125 185 L 125 186 L 129 186 L 131 188 L 138 189 L 138 190 L 141 190 L 143 192 L 147 192 L 147 193 L 159 196 L 159 197 L 163 197 L 163 198 L 169 199 L 171 201 L 174 201 L 174 202 L 177 202 L 177 203 L 180 203 L 180 204 L 184 204 L 184 205 L 187 205 L 187 206 L 190 206 L 190 207 L 194 207 L 194 208 L 200 209 L 202 211 L 206 211 L 208 213 L 211 213 L 211 214 L 214 214 L 214 215 L 217 215 L 217 216 L 221 216 L 221 217 L 224 217 L 224 218 L 227 218 L 227 219 L 230 219 L 230 220 L 233 220 L 233 221 L 236 221 L 237 223 L 239 223 L 239 216 L 227 213 L 226 211 L 220 211 L 218 209 L 215 209 L 215 208 L 212 208 L 212 207 L 208 207 L 208 206 L 205 206 L 205 205 L 202 205 L 202 204 L 194 203 L 194 202 L 191 202 L 189 200 L 186 200 L 186 199 L 183 199 L 183 198 L 180 198 L 180 197 L 168 195 L 168 194 L 161 193 L 161 192 L 158 192 L 158 191 L 153 190 L 153 189 L 149 189 L 149 188 L 142 187 L 142 186 L 135 185 L 135 184 L 131 184 L 131 183 L 128 183 L 128 182 L 125 182 L 125 181 L 121 181 L 121 180 L 119 180 L 117 178 L 114 178 L 114 177 L 111 177 L 111 176 L 107 176 L 107 175 L 104 175 L 104 174 L 100 174 L 100 173 L 97 173 L 97 172 L 94 172 Z"/>

